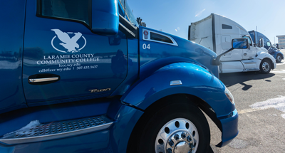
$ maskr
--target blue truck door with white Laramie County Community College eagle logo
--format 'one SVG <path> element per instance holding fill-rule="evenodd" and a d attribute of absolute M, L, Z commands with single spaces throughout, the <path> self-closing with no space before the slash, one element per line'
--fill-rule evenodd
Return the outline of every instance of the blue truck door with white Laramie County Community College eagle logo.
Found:
<path fill-rule="evenodd" d="M 28 103 L 106 97 L 123 82 L 125 35 L 93 33 L 90 0 L 26 3 L 23 84 Z"/>

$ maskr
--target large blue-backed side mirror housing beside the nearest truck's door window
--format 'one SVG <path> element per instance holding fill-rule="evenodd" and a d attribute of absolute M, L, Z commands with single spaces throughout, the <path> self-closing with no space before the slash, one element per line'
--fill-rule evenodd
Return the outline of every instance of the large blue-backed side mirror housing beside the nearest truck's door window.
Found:
<path fill-rule="evenodd" d="M 92 24 L 94 33 L 115 35 L 119 30 L 118 0 L 92 0 Z"/>

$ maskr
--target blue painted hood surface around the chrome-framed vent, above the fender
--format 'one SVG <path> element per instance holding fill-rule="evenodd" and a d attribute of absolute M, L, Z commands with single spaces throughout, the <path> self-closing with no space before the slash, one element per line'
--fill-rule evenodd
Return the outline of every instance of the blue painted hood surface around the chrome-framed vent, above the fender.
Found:
<path fill-rule="evenodd" d="M 192 41 L 188 41 L 184 38 L 180 38 L 178 36 L 171 35 L 169 33 L 164 33 L 162 31 L 156 31 L 151 28 L 145 28 L 140 26 L 140 32 L 142 33 L 142 29 L 155 31 L 156 33 L 162 33 L 164 35 L 172 37 L 178 46 L 172 46 L 163 43 L 152 43 L 150 41 L 142 41 L 142 43 L 149 43 L 150 50 L 140 49 L 140 64 L 143 65 L 145 63 L 150 62 L 151 60 L 157 60 L 159 58 L 169 58 L 169 57 L 180 57 L 180 58 L 188 58 L 192 60 L 192 63 L 196 63 L 197 65 L 202 66 L 203 68 L 207 68 L 207 70 L 219 78 L 219 70 L 217 65 L 212 65 L 212 59 L 217 57 L 217 54 L 213 51 L 205 48 L 204 46 L 200 46 L 197 43 Z M 160 55 L 160 56 L 152 56 L 152 55 Z"/>

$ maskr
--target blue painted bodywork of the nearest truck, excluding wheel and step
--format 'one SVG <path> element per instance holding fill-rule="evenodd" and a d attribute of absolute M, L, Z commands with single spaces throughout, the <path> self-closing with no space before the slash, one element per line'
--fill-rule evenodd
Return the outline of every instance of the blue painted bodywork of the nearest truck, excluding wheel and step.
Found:
<path fill-rule="evenodd" d="M 6 21 L 0 25 L 0 137 L 33 120 L 45 124 L 105 115 L 113 125 L 45 142 L 0 143 L 1 152 L 126 152 L 130 134 L 147 107 L 173 94 L 201 98 L 217 118 L 235 111 L 218 79 L 218 68 L 212 65 L 217 57 L 214 52 L 142 26 L 135 31 L 136 38 L 127 38 L 123 31 L 116 30 L 118 14 L 136 21 L 119 1 L 108 1 L 118 3 L 118 7 L 108 12 L 113 16 L 109 16 L 112 28 L 100 29 L 100 34 L 94 29 L 105 24 L 95 26 L 93 21 L 76 21 L 74 16 L 43 16 L 36 0 L 16 2 L 5 1 L 0 6 L 7 12 L 0 15 Z M 107 7 L 94 8 L 108 11 Z M 144 41 L 142 29 L 170 36 L 178 46 Z M 150 47 L 144 48 L 144 44 Z M 51 76 L 59 79 L 42 84 L 28 81 Z M 182 85 L 170 86 L 172 80 L 181 80 Z M 219 122 L 222 142 L 227 144 L 237 135 L 237 115 Z"/>

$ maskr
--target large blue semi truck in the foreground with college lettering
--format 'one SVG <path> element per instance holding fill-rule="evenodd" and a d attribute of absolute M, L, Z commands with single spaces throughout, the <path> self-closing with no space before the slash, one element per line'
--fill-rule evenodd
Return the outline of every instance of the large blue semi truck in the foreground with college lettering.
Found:
<path fill-rule="evenodd" d="M 14 0 L 0 10 L 1 153 L 207 152 L 202 111 L 222 132 L 217 147 L 237 136 L 220 56 L 138 26 L 125 0 Z"/>

